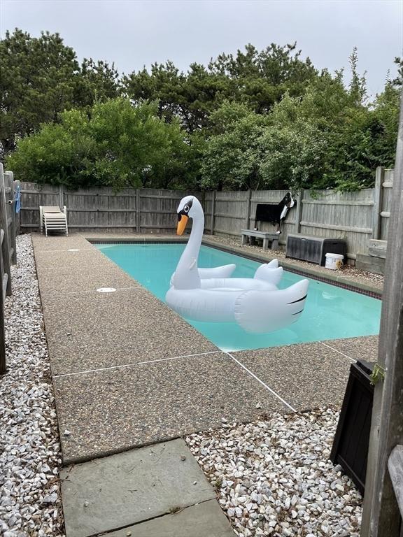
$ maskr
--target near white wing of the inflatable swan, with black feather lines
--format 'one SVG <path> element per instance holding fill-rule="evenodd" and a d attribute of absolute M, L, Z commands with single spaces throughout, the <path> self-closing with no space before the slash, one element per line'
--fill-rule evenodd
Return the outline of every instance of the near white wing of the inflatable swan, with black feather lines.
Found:
<path fill-rule="evenodd" d="M 301 280 L 287 289 L 243 292 L 235 301 L 236 322 L 248 332 L 264 334 L 297 321 L 304 310 L 308 283 Z"/>

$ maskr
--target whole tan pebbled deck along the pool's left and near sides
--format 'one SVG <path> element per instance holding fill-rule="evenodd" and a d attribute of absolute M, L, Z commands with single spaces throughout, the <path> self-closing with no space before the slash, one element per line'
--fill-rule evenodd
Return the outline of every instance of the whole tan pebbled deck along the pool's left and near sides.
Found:
<path fill-rule="evenodd" d="M 65 465 L 340 405 L 351 363 L 376 361 L 377 336 L 222 352 L 82 234 L 32 240 Z"/>

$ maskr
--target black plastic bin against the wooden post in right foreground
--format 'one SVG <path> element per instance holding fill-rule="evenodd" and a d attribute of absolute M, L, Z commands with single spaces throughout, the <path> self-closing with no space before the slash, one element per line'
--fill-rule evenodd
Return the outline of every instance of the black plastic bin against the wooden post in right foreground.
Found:
<path fill-rule="evenodd" d="M 351 364 L 339 423 L 334 436 L 330 460 L 340 464 L 364 494 L 369 433 L 371 430 L 374 386 L 370 375 L 374 364 L 358 360 Z"/>

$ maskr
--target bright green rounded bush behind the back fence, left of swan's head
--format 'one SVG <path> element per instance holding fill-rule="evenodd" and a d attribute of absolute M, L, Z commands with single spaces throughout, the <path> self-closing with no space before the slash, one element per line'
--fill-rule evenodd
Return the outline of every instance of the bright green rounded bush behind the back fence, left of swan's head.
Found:
<path fill-rule="evenodd" d="M 86 113 L 62 113 L 59 124 L 43 124 L 23 138 L 7 160 L 20 180 L 63 184 L 168 187 L 176 173 L 188 180 L 190 147 L 178 121 L 157 117 L 154 103 L 129 99 L 97 103 Z M 197 176 L 197 173 L 195 174 Z"/>

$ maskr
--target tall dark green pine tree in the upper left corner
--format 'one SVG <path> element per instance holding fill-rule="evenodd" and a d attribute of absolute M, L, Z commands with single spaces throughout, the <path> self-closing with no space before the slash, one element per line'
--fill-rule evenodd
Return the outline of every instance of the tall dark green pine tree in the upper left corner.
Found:
<path fill-rule="evenodd" d="M 48 31 L 39 38 L 7 31 L 0 41 L 0 66 L 0 144 L 6 154 L 42 123 L 59 121 L 64 110 L 90 106 L 118 91 L 113 66 L 90 59 L 80 67 L 73 49 Z"/>

